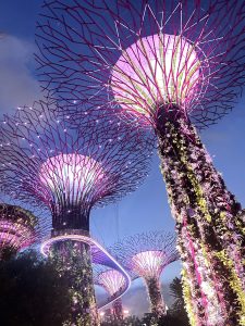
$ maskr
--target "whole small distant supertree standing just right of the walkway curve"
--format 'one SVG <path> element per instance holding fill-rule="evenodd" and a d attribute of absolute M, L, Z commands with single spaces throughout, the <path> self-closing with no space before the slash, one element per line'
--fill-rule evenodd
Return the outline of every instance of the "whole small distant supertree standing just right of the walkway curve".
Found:
<path fill-rule="evenodd" d="M 172 234 L 155 231 L 138 234 L 110 248 L 115 259 L 130 272 L 132 279 L 142 277 L 150 302 L 152 322 L 166 314 L 160 276 L 166 266 L 179 259 Z"/>

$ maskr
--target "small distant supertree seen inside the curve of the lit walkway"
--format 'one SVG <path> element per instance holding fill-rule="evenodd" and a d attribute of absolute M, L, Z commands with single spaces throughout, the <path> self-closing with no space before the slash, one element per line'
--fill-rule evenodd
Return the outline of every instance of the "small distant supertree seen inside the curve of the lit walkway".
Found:
<path fill-rule="evenodd" d="M 120 324 L 123 321 L 123 305 L 120 292 L 126 287 L 125 276 L 117 269 L 95 265 L 94 284 L 102 287 L 110 296 L 109 300 L 112 301 L 114 322 Z"/>

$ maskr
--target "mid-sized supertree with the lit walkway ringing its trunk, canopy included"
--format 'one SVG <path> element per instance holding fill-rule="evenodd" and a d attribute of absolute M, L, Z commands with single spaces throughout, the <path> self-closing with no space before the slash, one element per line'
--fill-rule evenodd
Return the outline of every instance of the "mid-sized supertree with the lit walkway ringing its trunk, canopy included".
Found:
<path fill-rule="evenodd" d="M 135 190 L 147 174 L 144 137 L 120 122 L 84 116 L 70 128 L 57 120 L 51 104 L 35 102 L 4 116 L 0 129 L 0 185 L 20 201 L 52 215 L 51 258 L 68 276 L 71 324 L 97 325 L 89 236 L 91 208 Z M 52 104 L 53 105 L 53 104 Z M 69 324 L 70 325 L 70 324 Z"/>

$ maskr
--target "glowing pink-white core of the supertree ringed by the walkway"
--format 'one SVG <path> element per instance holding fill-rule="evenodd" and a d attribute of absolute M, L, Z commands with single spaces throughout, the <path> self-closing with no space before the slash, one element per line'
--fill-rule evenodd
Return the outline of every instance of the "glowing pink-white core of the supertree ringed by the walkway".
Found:
<path fill-rule="evenodd" d="M 98 187 L 105 173 L 100 163 L 90 156 L 73 153 L 48 159 L 41 165 L 39 177 L 57 197 L 65 193 L 72 203 L 86 199 Z"/>

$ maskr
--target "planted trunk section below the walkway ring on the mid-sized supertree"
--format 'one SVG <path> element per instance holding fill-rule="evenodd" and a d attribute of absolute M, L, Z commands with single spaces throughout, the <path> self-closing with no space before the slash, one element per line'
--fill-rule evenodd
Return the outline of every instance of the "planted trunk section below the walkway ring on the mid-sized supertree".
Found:
<path fill-rule="evenodd" d="M 65 276 L 71 293 L 71 318 L 63 325 L 98 326 L 89 246 L 74 240 L 56 242 L 51 259 Z"/>

